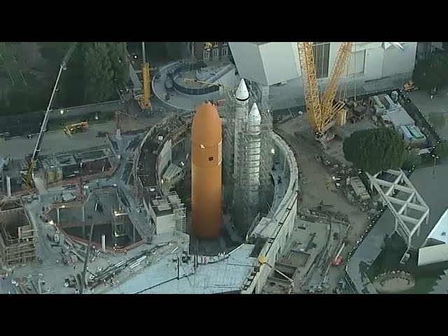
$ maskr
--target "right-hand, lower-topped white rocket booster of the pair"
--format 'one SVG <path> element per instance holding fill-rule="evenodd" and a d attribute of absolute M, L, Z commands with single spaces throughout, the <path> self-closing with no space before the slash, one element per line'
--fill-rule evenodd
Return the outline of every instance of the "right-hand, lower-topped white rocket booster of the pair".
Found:
<path fill-rule="evenodd" d="M 247 169 L 248 169 L 248 216 L 255 218 L 258 214 L 260 193 L 260 157 L 261 157 L 261 114 L 256 103 L 253 104 L 247 118 Z"/>

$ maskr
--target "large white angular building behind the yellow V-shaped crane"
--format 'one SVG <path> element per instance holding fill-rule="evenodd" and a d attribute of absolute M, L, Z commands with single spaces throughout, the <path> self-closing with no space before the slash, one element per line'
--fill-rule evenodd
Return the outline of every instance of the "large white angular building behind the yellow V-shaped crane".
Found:
<path fill-rule="evenodd" d="M 322 85 L 331 74 L 341 43 L 315 42 L 316 72 Z M 304 104 L 297 42 L 230 42 L 229 45 L 241 78 L 269 86 L 274 109 Z M 403 48 L 395 48 L 390 42 L 353 43 L 348 77 L 344 81 L 349 94 L 354 90 L 362 94 L 400 86 L 411 78 L 417 43 L 400 42 L 400 45 Z"/>

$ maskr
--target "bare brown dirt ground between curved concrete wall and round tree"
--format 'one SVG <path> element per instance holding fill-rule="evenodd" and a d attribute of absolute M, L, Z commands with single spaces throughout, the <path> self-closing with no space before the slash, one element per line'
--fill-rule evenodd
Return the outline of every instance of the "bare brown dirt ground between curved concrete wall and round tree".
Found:
<path fill-rule="evenodd" d="M 363 127 L 360 124 L 357 126 Z M 306 116 L 298 116 L 297 118 L 288 120 L 286 123 L 276 125 L 275 130 L 293 147 L 297 155 L 297 163 L 299 165 L 299 171 L 302 173 L 302 181 L 305 181 L 304 183 L 300 183 L 300 187 L 302 188 L 302 203 L 300 204 L 300 209 L 316 207 L 319 202 L 323 201 L 323 204 L 332 206 L 332 210 L 340 211 L 342 214 L 349 216 L 349 221 L 352 224 L 348 237 L 349 244 L 342 252 L 342 258 L 346 260 L 347 253 L 351 251 L 354 243 L 356 243 L 360 235 L 367 228 L 367 214 L 347 202 L 342 191 L 336 189 L 335 183 L 332 183 L 328 168 L 315 159 L 315 155 L 328 155 L 328 153 L 326 153 L 327 151 L 324 153 L 321 144 L 313 139 Z M 294 132 L 299 132 L 300 135 L 296 137 Z M 342 141 L 339 142 L 340 144 L 331 144 L 333 146 L 329 146 L 329 151 L 334 152 L 332 155 L 339 153 L 337 155 L 340 158 L 342 155 Z M 334 145 L 339 145 L 339 152 Z M 328 189 L 326 186 L 327 183 L 329 183 Z M 328 273 L 330 290 L 337 286 L 337 281 L 342 277 L 343 269 L 344 264 L 339 267 L 330 268 L 330 272 Z"/>

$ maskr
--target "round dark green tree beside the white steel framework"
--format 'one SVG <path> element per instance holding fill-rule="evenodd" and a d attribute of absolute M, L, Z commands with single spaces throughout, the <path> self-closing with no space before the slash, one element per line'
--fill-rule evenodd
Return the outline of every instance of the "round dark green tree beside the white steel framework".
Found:
<path fill-rule="evenodd" d="M 344 139 L 342 150 L 346 160 L 358 169 L 376 174 L 401 167 L 405 145 L 398 132 L 383 127 L 353 132 Z"/>

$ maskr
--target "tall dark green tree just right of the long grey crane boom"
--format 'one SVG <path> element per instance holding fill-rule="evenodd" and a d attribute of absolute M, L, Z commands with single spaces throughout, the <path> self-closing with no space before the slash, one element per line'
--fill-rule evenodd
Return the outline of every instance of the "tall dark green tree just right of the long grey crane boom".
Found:
<path fill-rule="evenodd" d="M 89 42 L 84 44 L 85 100 L 104 102 L 125 86 L 129 63 L 124 42 Z"/>

